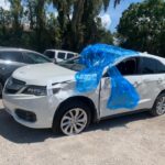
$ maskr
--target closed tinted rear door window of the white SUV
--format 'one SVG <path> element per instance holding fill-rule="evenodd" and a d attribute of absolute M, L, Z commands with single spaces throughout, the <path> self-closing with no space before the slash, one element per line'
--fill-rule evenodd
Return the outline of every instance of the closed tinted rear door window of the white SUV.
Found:
<path fill-rule="evenodd" d="M 141 74 L 161 74 L 165 73 L 165 66 L 157 59 L 143 57 L 140 65 Z"/>

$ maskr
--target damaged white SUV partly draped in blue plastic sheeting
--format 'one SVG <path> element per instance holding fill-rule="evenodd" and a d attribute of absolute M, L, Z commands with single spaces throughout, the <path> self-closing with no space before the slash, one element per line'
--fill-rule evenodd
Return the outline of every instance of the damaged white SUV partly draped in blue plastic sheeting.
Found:
<path fill-rule="evenodd" d="M 75 74 L 85 66 L 78 57 L 58 65 L 38 64 L 15 70 L 6 84 L 3 105 L 19 123 L 30 128 L 53 128 L 72 135 L 84 131 L 90 122 L 125 112 L 148 110 L 165 113 L 165 59 L 148 54 L 124 57 L 117 68 L 136 89 L 136 108 L 110 110 L 110 77 L 105 69 L 94 92 L 75 90 Z"/>

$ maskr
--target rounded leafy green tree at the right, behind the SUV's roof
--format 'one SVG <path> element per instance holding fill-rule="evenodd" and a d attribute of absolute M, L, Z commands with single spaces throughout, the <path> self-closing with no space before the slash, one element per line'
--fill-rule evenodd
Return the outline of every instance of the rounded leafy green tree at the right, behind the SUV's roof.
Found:
<path fill-rule="evenodd" d="M 123 47 L 165 56 L 165 1 L 131 4 L 120 19 L 118 33 Z"/>

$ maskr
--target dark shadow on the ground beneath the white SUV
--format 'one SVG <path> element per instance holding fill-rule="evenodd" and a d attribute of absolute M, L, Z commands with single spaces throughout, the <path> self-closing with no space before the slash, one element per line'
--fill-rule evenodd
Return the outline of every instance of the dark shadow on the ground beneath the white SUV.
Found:
<path fill-rule="evenodd" d="M 151 116 L 147 112 L 143 112 L 109 119 L 90 125 L 87 132 L 96 130 L 109 131 L 110 129 L 127 127 L 127 123 L 148 118 Z M 63 138 L 63 135 L 54 135 L 51 129 L 36 130 L 25 128 L 16 123 L 3 109 L 0 109 L 0 135 L 14 143 L 37 143 L 48 138 Z"/>

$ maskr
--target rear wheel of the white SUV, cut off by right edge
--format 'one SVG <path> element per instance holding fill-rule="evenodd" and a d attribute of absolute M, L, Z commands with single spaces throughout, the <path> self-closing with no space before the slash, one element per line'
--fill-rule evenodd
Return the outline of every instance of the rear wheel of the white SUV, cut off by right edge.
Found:
<path fill-rule="evenodd" d="M 151 110 L 153 117 L 163 116 L 165 113 L 165 92 L 161 94 Z"/>

